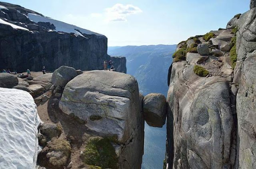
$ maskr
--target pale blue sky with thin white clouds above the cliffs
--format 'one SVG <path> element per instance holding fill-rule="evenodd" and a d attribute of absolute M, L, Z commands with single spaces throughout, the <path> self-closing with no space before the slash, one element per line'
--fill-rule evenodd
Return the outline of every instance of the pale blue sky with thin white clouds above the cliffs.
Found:
<path fill-rule="evenodd" d="M 177 44 L 225 28 L 250 0 L 4 0 L 108 37 L 109 46 Z"/>

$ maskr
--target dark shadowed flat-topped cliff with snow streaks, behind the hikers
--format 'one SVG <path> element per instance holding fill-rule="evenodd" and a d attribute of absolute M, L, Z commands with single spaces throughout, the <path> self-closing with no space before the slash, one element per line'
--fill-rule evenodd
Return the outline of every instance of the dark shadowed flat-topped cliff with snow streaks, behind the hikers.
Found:
<path fill-rule="evenodd" d="M 18 5 L 0 2 L 0 6 L 1 69 L 41 71 L 45 66 L 54 71 L 66 65 L 85 71 L 103 69 L 103 61 L 111 60 L 104 35 Z M 125 62 L 116 62 L 121 64 L 116 71 L 126 73 Z"/>

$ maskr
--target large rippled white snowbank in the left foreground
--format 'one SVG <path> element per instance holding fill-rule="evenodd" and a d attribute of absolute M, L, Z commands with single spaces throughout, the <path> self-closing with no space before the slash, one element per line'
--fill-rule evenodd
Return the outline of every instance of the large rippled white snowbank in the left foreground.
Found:
<path fill-rule="evenodd" d="M 0 88 L 1 169 L 35 169 L 40 124 L 36 104 L 28 92 Z"/>

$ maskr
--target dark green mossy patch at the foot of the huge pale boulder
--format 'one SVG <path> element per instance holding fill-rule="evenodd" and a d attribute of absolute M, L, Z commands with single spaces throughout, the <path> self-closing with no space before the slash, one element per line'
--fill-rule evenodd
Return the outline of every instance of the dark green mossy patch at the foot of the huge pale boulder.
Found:
<path fill-rule="evenodd" d="M 117 155 L 112 146 L 113 138 L 93 137 L 88 141 L 83 161 L 88 165 L 98 166 L 102 169 L 117 169 Z"/>

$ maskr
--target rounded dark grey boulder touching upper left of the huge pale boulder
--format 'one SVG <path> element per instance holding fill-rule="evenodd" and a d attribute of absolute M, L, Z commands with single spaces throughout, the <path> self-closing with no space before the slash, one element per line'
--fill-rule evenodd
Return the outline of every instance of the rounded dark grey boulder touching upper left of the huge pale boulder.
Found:
<path fill-rule="evenodd" d="M 54 71 L 52 75 L 52 84 L 64 88 L 65 85 L 76 76 L 76 69 L 73 67 L 61 66 Z"/>

